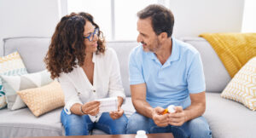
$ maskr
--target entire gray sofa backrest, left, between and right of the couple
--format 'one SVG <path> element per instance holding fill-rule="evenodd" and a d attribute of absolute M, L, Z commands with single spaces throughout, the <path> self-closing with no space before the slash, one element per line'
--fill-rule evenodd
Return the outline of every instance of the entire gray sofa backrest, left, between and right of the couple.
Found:
<path fill-rule="evenodd" d="M 201 53 L 207 92 L 221 92 L 230 82 L 230 76 L 219 60 L 211 45 L 201 37 L 183 37 L 186 43 L 192 44 Z M 49 37 L 13 37 L 5 38 L 3 55 L 18 51 L 28 72 L 39 72 L 45 69 L 44 56 L 50 43 Z M 108 47 L 115 49 L 119 57 L 120 72 L 125 94 L 131 95 L 129 85 L 128 58 L 131 49 L 137 46 L 135 41 L 108 42 Z"/>

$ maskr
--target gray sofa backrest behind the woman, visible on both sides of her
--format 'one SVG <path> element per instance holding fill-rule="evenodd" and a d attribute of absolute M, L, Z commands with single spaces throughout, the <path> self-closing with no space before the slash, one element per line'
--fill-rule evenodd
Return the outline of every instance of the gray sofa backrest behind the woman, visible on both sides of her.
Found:
<path fill-rule="evenodd" d="M 44 56 L 49 47 L 49 37 L 11 37 L 5 38 L 3 41 L 3 55 L 9 55 L 18 51 L 26 66 L 27 72 L 39 72 L 45 69 Z M 137 42 L 108 42 L 107 46 L 115 49 L 119 57 L 125 95 L 130 96 L 128 59 L 131 49 L 137 46 Z"/>

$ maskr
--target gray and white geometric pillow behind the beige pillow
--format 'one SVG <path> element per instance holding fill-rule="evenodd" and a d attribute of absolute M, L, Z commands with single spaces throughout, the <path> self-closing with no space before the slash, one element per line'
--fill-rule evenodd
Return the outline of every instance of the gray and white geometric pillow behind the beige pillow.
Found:
<path fill-rule="evenodd" d="M 0 78 L 3 79 L 3 88 L 10 110 L 16 110 L 26 106 L 20 99 L 20 96 L 17 95 L 17 91 L 41 87 L 53 81 L 50 78 L 49 72 L 46 70 L 21 76 L 0 75 Z"/>

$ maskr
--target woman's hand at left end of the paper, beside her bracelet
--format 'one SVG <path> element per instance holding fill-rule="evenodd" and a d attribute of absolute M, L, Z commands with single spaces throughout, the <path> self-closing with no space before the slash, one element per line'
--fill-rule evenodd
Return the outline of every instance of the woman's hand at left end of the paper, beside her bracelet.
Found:
<path fill-rule="evenodd" d="M 90 101 L 82 105 L 82 111 L 84 114 L 90 114 L 96 116 L 100 111 L 100 101 Z"/>

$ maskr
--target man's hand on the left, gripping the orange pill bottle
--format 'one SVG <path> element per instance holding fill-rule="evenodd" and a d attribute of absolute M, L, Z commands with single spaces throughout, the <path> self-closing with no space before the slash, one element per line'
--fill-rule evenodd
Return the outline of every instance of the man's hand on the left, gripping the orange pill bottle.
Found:
<path fill-rule="evenodd" d="M 160 127 L 165 127 L 168 125 L 168 113 L 161 115 L 161 112 L 164 112 L 164 108 L 157 106 L 153 109 L 152 119 L 154 120 L 154 124 Z"/>

